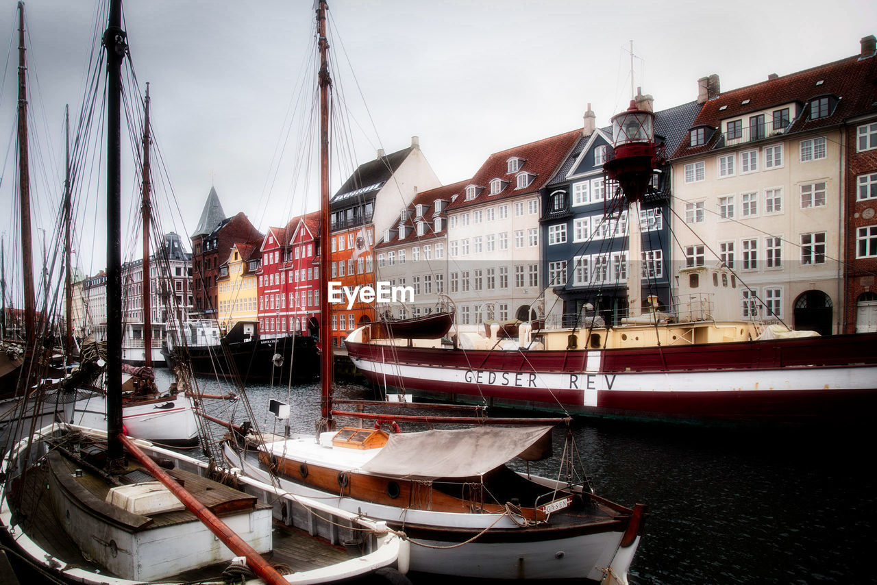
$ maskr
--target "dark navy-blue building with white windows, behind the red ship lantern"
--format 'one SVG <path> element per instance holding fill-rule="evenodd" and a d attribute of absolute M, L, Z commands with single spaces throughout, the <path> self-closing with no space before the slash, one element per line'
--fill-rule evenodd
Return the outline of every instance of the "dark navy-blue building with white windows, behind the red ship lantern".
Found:
<path fill-rule="evenodd" d="M 652 111 L 652 96 L 636 96 L 642 110 Z M 662 152 L 674 152 L 701 105 L 695 101 L 655 112 L 655 141 Z M 641 290 L 634 298 L 657 297 L 671 304 L 669 218 L 670 166 L 655 174 L 652 189 L 634 212 L 639 215 L 640 258 L 628 258 L 629 210 L 617 188 L 604 184 L 603 163 L 612 153 L 612 128 L 595 128 L 595 114 L 585 113 L 581 138 L 553 179 L 542 189 L 542 278 L 559 302 L 546 306 L 548 325 L 578 327 L 588 315 L 617 325 L 631 312 L 630 270 L 640 272 Z M 615 191 L 615 192 L 613 192 Z M 586 311 L 586 307 L 588 311 Z M 636 309 L 636 307 L 635 307 Z"/>

